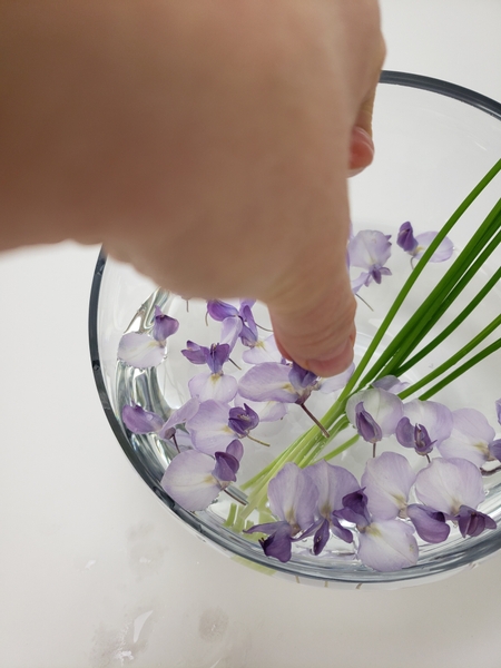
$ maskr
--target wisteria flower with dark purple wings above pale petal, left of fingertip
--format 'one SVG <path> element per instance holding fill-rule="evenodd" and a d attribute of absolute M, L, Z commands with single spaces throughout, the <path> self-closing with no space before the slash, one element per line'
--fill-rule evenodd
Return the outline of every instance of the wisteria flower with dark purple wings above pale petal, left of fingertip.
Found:
<path fill-rule="evenodd" d="M 237 393 L 238 383 L 232 375 L 225 375 L 224 364 L 229 360 L 230 347 L 227 343 L 214 343 L 210 347 L 200 346 L 193 341 L 186 343 L 181 354 L 193 364 L 207 364 L 210 371 L 198 373 L 188 382 L 189 392 L 199 401 L 229 402 Z"/>

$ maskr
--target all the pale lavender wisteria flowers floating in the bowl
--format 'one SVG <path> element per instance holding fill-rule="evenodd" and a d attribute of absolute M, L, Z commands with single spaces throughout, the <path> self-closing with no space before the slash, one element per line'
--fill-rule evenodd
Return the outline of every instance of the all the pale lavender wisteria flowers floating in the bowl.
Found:
<path fill-rule="evenodd" d="M 435 235 L 414 237 L 411 224 L 405 223 L 396 243 L 412 264 Z M 445 238 L 432 261 L 443 262 L 452 252 Z M 351 237 L 348 266 L 363 269 L 352 281 L 355 294 L 391 274 L 385 266 L 390 254 L 390 236 L 383 233 L 363 230 Z M 333 379 L 321 379 L 286 361 L 273 334 L 259 336 L 253 306 L 250 299 L 240 299 L 238 306 L 207 303 L 208 316 L 222 324 L 219 341 L 209 346 L 187 341 L 183 355 L 204 371 L 193 375 L 190 399 L 167 421 L 138 404 L 122 409 L 122 422 L 130 432 L 155 433 L 175 443 L 178 454 L 161 485 L 189 511 L 204 510 L 222 491 L 229 491 L 244 455 L 243 440 L 257 441 L 252 432 L 259 422 L 282 420 L 289 404 L 310 414 L 305 402 L 313 392 L 341 390 L 353 373 L 352 366 Z M 167 338 L 178 327 L 175 318 L 156 307 L 149 332 L 124 335 L 118 358 L 137 369 L 157 366 L 165 358 Z M 243 362 L 252 365 L 239 381 L 225 371 L 237 341 L 245 346 Z M 305 468 L 288 462 L 269 481 L 268 504 L 276 521 L 246 530 L 266 537 L 259 542 L 268 557 L 286 562 L 293 544 L 306 539 L 320 556 L 334 538 L 350 543 L 365 566 L 393 571 L 416 563 L 415 534 L 426 543 L 439 543 L 448 539 L 451 524 L 463 537 L 495 528 L 494 520 L 478 508 L 485 497 L 482 466 L 501 460 L 501 440 L 473 409 L 451 412 L 432 401 L 402 402 L 397 393 L 404 386 L 387 376 L 347 401 L 347 419 L 373 445 L 360 482 L 346 469 L 323 460 Z M 501 400 L 497 412 L 501 423 Z M 376 448 L 386 450 L 376 456 Z M 405 450 L 391 450 L 395 448 Z M 421 455 L 413 454 L 420 462 L 418 472 L 403 452 Z"/>

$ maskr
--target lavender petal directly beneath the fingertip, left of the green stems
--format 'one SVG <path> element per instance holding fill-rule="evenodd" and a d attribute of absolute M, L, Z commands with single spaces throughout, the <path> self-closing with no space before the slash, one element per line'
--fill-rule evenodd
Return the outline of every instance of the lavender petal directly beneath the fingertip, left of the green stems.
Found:
<path fill-rule="evenodd" d="M 281 401 L 294 403 L 297 392 L 291 384 L 286 364 L 266 362 L 245 373 L 238 383 L 238 394 L 253 401 Z"/>

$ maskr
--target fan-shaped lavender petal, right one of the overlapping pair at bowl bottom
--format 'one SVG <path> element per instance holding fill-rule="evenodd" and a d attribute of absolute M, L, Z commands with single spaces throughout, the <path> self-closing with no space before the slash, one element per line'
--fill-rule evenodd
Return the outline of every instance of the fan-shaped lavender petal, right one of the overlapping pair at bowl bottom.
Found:
<path fill-rule="evenodd" d="M 343 466 L 335 466 L 325 461 L 304 469 L 318 491 L 318 512 L 330 518 L 335 510 L 343 508 L 343 498 L 360 489 L 356 478 Z"/>

